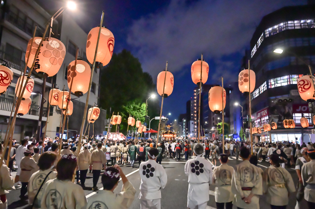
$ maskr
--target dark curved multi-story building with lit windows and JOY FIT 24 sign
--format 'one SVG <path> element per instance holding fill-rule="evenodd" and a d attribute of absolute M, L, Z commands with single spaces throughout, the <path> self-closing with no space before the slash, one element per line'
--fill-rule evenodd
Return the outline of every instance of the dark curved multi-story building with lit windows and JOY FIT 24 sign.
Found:
<path fill-rule="evenodd" d="M 315 5 L 290 6 L 264 16 L 250 41 L 250 69 L 256 74 L 251 94 L 252 120 L 255 127 L 275 122 L 276 131 L 255 135 L 255 141 L 308 142 L 300 118 L 312 118 L 308 104 L 299 96 L 297 80 L 309 74 L 315 64 Z M 275 53 L 282 49 L 283 53 Z M 314 72 L 313 72 L 314 73 Z M 294 129 L 284 129 L 283 120 L 293 119 Z"/>

